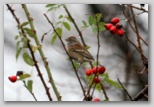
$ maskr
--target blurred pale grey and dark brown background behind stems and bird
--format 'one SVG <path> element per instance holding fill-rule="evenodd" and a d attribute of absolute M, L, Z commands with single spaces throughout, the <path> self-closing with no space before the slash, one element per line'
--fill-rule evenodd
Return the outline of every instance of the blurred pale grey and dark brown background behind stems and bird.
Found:
<path fill-rule="evenodd" d="M 13 9 L 15 9 L 15 13 L 21 22 L 27 21 L 20 4 L 10 5 Z M 40 41 L 44 33 L 52 30 L 51 25 L 47 22 L 43 15 L 44 13 L 47 13 L 47 8 L 45 8 L 45 6 L 46 4 L 27 4 L 31 17 L 34 19 L 34 26 Z M 131 16 L 130 9 L 127 5 L 66 4 L 66 6 L 72 17 L 75 19 L 78 27 L 82 30 L 82 35 L 86 44 L 91 47 L 89 52 L 95 60 L 97 54 L 96 33 L 94 33 L 90 27 L 87 29 L 81 28 L 83 26 L 82 20 L 88 21 L 87 14 L 102 13 L 103 17 L 101 21 L 105 23 L 109 23 L 113 17 L 122 19 L 120 23 L 123 25 L 123 29 L 128 33 L 130 40 L 137 44 L 136 33 L 134 33 L 131 29 L 123 14 L 124 10 L 127 17 Z M 139 4 L 134 4 L 134 6 L 140 8 Z M 142 8 L 148 11 L 147 4 L 145 4 Z M 142 11 L 134 9 L 134 12 L 135 14 L 138 14 Z M 58 17 L 60 14 L 66 15 L 67 13 L 63 8 L 47 13 L 49 19 L 54 24 L 59 21 Z M 132 22 L 133 20 L 130 19 L 130 21 Z M 136 15 L 136 21 L 139 28 L 139 34 L 148 43 L 148 13 L 144 12 L 140 15 Z M 74 25 L 71 23 L 69 24 L 71 25 L 71 31 L 65 29 L 62 34 L 62 39 L 65 45 L 65 39 L 69 36 L 76 36 L 81 42 Z M 62 101 L 82 101 L 83 93 L 73 71 L 72 65 L 68 61 L 68 56 L 66 55 L 66 52 L 58 38 L 54 45 L 51 44 L 51 33 L 52 32 L 48 33 L 44 37 L 42 49 L 47 57 L 47 61 L 49 62 L 49 67 L 58 91 L 62 96 Z M 23 82 L 18 81 L 16 83 L 11 83 L 8 79 L 10 75 L 16 75 L 16 72 L 19 70 L 31 74 L 31 77 L 26 80 L 31 79 L 34 81 L 33 92 L 38 101 L 48 101 L 48 97 L 46 96 L 46 92 L 40 78 L 37 75 L 35 67 L 27 65 L 23 61 L 22 53 L 26 50 L 21 52 L 18 61 L 16 61 L 16 35 L 18 35 L 17 23 L 6 5 L 4 5 L 4 101 L 34 101 L 31 94 L 23 86 Z M 141 71 L 144 67 L 139 52 L 126 40 L 125 36 L 119 37 L 117 35 L 112 35 L 109 31 L 103 31 L 100 33 L 100 45 L 100 64 L 106 67 L 106 72 L 112 80 L 117 81 L 117 78 L 119 78 L 125 88 L 127 88 L 129 94 L 132 97 L 136 96 L 136 94 L 143 89 L 144 85 L 148 84 L 148 74 L 146 72 L 142 75 L 136 73 L 136 71 Z M 146 46 L 142 41 L 141 46 L 144 55 L 148 58 L 148 46 Z M 27 52 L 29 51 L 27 50 Z M 38 52 L 36 52 L 35 55 L 43 77 L 45 78 L 47 85 L 51 87 L 48 83 L 48 77 L 42 59 Z M 88 67 L 90 67 L 89 64 L 86 64 L 86 66 L 81 67 L 78 71 L 85 89 L 87 89 L 85 70 Z M 117 89 L 107 84 L 104 85 L 109 101 L 130 100 L 122 89 Z M 56 101 L 56 96 L 54 95 L 52 87 L 50 88 L 50 92 L 53 100 Z M 97 90 L 94 92 L 93 97 L 98 97 L 101 100 L 105 99 L 104 94 Z"/>

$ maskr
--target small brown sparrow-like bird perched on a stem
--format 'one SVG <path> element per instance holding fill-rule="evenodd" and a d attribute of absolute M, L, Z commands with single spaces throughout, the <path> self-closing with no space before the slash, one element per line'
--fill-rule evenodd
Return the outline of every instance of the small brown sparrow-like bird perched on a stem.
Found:
<path fill-rule="evenodd" d="M 70 36 L 65 40 L 67 41 L 67 51 L 73 60 L 79 63 L 94 61 L 92 55 L 80 44 L 80 42 L 74 36 Z"/>

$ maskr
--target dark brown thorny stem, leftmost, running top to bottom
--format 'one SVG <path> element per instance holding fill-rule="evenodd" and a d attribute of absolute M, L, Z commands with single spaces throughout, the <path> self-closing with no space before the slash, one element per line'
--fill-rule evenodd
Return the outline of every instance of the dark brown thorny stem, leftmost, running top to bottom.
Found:
<path fill-rule="evenodd" d="M 13 15 L 13 17 L 15 18 L 17 24 L 18 24 L 18 25 L 21 25 L 19 19 L 17 18 L 17 16 L 16 16 L 15 13 L 14 13 L 14 10 L 13 10 L 8 4 L 6 4 L 6 6 L 8 7 L 8 10 L 10 10 L 11 14 Z M 28 38 L 27 38 L 27 36 L 25 35 L 25 32 L 24 32 L 22 26 L 20 27 L 20 29 L 21 29 L 21 32 L 22 32 L 23 36 L 28 40 Z M 36 70 L 37 70 L 37 72 L 38 72 L 38 75 L 39 75 L 39 77 L 40 77 L 42 83 L 43 83 L 43 86 L 44 86 L 44 88 L 45 88 L 45 90 L 46 90 L 46 93 L 47 93 L 47 96 L 48 96 L 49 100 L 52 101 L 52 98 L 51 98 L 50 92 L 49 92 L 49 88 L 47 87 L 47 85 L 46 85 L 46 83 L 45 83 L 45 80 L 43 79 L 43 76 L 42 76 L 42 74 L 41 74 L 41 71 L 40 71 L 40 69 L 39 69 L 39 66 L 38 66 L 38 64 L 37 64 L 35 55 L 34 55 L 34 53 L 33 53 L 33 51 L 32 51 L 32 48 L 31 48 L 29 42 L 30 42 L 30 41 L 28 40 L 27 45 L 28 45 L 28 49 L 29 49 L 29 51 L 30 51 L 30 53 L 31 53 L 32 59 L 33 59 L 33 61 L 34 61 L 34 66 L 35 66 L 35 68 L 36 68 Z"/>

